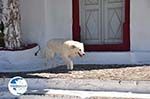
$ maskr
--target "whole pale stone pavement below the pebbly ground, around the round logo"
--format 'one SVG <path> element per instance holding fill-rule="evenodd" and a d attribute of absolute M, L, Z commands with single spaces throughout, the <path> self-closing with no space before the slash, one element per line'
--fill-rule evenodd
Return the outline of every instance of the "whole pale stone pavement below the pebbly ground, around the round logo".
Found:
<path fill-rule="evenodd" d="M 0 78 L 0 99 L 14 99 L 8 91 L 9 78 Z M 150 99 L 150 81 L 102 81 L 98 79 L 26 79 L 28 91 L 19 99 Z M 40 97 L 40 98 L 38 98 Z M 51 97 L 51 98 L 50 98 Z M 98 98 L 99 97 L 99 98 Z M 103 99 L 103 98 L 102 98 Z M 105 99 L 105 98 L 104 98 Z M 107 99 L 107 98 L 106 98 Z"/>

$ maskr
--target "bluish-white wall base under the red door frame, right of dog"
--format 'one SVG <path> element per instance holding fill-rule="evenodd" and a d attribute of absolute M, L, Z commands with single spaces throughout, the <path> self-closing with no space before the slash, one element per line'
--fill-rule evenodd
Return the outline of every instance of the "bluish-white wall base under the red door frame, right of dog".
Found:
<path fill-rule="evenodd" d="M 87 52 L 76 64 L 150 64 L 150 52 Z"/>

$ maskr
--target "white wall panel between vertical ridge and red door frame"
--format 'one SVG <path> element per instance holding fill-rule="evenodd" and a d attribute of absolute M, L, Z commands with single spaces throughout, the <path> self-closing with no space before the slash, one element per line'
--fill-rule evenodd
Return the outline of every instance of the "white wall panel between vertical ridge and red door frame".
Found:
<path fill-rule="evenodd" d="M 46 40 L 50 38 L 72 38 L 71 0 L 47 0 Z"/>

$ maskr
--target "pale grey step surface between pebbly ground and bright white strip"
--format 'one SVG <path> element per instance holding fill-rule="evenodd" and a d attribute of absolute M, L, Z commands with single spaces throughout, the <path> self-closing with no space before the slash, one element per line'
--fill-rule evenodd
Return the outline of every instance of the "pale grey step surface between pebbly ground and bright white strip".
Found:
<path fill-rule="evenodd" d="M 27 79 L 31 89 L 64 89 L 150 93 L 150 81 L 119 81 L 98 79 Z"/>

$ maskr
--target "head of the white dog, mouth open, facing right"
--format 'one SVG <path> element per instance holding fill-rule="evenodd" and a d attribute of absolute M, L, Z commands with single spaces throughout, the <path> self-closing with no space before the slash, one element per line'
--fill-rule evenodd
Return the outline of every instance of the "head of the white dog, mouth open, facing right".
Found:
<path fill-rule="evenodd" d="M 74 41 L 71 43 L 71 49 L 73 50 L 75 56 L 83 57 L 85 55 L 83 43 Z"/>

